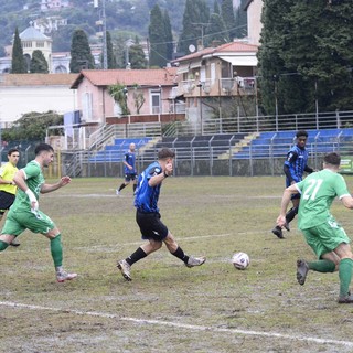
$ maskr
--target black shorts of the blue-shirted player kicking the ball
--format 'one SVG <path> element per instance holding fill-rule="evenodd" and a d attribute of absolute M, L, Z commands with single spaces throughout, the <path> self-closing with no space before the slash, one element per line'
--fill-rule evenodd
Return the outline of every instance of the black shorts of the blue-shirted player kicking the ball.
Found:
<path fill-rule="evenodd" d="M 162 242 L 168 235 L 168 228 L 159 213 L 136 212 L 136 222 L 140 227 L 142 239 Z"/>

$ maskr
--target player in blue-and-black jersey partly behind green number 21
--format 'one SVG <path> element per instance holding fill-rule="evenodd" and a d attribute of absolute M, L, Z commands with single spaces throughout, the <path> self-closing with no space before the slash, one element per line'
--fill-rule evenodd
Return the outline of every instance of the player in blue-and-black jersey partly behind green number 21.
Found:
<path fill-rule="evenodd" d="M 286 174 L 286 188 L 291 184 L 302 181 L 304 172 L 312 173 L 314 170 L 308 167 L 309 151 L 307 150 L 308 132 L 306 130 L 299 130 L 296 133 L 296 145 L 288 151 L 287 159 L 284 164 L 284 172 Z M 300 194 L 293 194 L 291 196 L 292 207 L 286 214 L 285 228 L 289 232 L 289 223 L 295 218 L 298 213 Z M 280 239 L 284 238 L 282 228 L 276 226 L 272 233 Z"/>

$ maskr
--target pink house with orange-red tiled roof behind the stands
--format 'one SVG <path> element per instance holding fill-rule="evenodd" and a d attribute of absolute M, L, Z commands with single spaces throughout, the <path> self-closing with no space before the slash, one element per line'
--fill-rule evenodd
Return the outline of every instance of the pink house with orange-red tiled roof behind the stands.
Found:
<path fill-rule="evenodd" d="M 109 95 L 109 86 L 119 84 L 127 88 L 127 106 L 131 115 L 170 114 L 173 109 L 172 89 L 176 85 L 176 68 L 160 69 L 88 69 L 82 71 L 71 88 L 77 90 L 78 109 L 84 122 L 107 122 L 121 116 L 121 109 Z M 136 107 L 137 97 L 143 104 Z"/>

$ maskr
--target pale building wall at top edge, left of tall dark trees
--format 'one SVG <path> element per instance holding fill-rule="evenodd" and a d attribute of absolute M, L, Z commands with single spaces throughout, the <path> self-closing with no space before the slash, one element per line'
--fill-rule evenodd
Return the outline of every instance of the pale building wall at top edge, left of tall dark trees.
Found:
<path fill-rule="evenodd" d="M 250 44 L 260 44 L 263 7 L 264 0 L 248 0 L 244 7 L 247 14 L 247 35 Z"/>

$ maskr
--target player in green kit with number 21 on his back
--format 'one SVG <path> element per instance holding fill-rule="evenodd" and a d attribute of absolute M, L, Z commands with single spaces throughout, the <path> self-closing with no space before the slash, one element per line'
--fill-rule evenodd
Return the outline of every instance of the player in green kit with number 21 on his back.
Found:
<path fill-rule="evenodd" d="M 315 253 L 318 260 L 297 261 L 297 280 L 306 282 L 309 270 L 334 272 L 339 270 L 339 303 L 353 303 L 350 284 L 353 272 L 353 255 L 350 238 L 330 213 L 332 201 L 338 196 L 343 205 L 353 208 L 353 197 L 346 183 L 338 173 L 341 158 L 338 153 L 329 153 L 323 159 L 323 170 L 292 184 L 284 192 L 277 225 L 286 223 L 286 211 L 292 193 L 300 193 L 298 227 L 304 235 L 307 244 Z"/>

